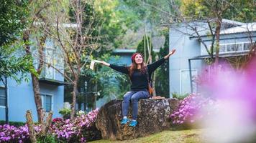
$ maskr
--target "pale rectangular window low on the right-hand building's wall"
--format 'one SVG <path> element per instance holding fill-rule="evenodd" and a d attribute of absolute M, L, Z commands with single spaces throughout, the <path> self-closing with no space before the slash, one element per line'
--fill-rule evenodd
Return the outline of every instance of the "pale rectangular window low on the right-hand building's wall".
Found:
<path fill-rule="evenodd" d="M 193 92 L 196 92 L 197 85 L 195 78 L 197 76 L 197 69 L 191 69 L 192 72 L 192 88 Z M 189 76 L 189 69 L 180 70 L 180 94 L 191 93 L 191 79 Z"/>

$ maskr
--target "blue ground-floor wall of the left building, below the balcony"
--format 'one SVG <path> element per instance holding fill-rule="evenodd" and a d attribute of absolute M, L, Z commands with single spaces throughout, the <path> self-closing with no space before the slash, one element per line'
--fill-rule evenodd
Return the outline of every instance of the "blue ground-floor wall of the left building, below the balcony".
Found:
<path fill-rule="evenodd" d="M 63 86 L 40 84 L 40 92 L 52 95 L 53 118 L 61 117 L 58 110 L 63 108 L 64 89 Z M 32 111 L 33 120 L 37 121 L 37 111 L 32 87 L 32 81 L 17 84 L 14 80 L 8 79 L 8 105 L 9 121 L 25 122 L 27 110 Z M 5 120 L 5 108 L 0 107 L 0 120 Z"/>

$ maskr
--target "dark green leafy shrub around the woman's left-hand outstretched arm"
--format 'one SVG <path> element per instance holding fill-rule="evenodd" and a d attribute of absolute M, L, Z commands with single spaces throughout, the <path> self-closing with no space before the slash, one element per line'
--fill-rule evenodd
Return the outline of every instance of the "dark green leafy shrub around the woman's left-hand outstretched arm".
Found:
<path fill-rule="evenodd" d="M 91 58 L 111 62 L 117 61 L 119 56 L 111 56 L 109 53 L 94 53 Z M 86 64 L 86 69 L 88 69 L 89 66 L 89 63 Z M 87 89 L 85 89 L 85 82 L 87 82 Z M 127 75 L 120 74 L 119 72 L 110 69 L 108 66 L 101 66 L 101 64 L 96 64 L 94 71 L 91 69 L 84 70 L 81 75 L 81 80 L 78 84 L 78 92 L 81 94 L 78 95 L 78 102 L 80 104 L 86 103 L 88 107 L 93 107 L 96 86 L 97 92 L 101 91 L 97 99 L 102 97 L 107 97 L 107 100 L 122 99 L 124 93 L 129 90 L 129 84 L 129 77 Z M 71 95 L 68 93 L 70 93 L 72 89 L 65 89 L 65 101 L 67 102 L 71 100 Z"/>

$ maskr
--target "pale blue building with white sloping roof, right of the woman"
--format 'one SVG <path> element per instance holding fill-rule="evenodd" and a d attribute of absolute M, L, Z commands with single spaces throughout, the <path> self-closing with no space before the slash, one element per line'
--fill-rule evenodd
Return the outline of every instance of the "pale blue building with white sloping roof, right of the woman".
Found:
<path fill-rule="evenodd" d="M 198 36 L 195 31 L 191 30 L 191 27 L 196 27 L 200 31 L 202 41 L 198 40 Z M 175 54 L 170 57 L 170 97 L 172 93 L 187 94 L 197 91 L 197 85 L 193 79 L 206 66 L 204 59 L 210 57 L 204 46 L 204 44 L 208 48 L 211 46 L 211 37 L 207 36 L 208 29 L 207 23 L 204 22 L 191 22 L 189 26 L 180 24 L 170 27 L 169 50 L 176 49 Z M 250 45 L 255 41 L 256 23 L 245 24 L 223 19 L 219 41 L 219 60 L 247 55 Z M 191 63 L 191 76 L 189 62 Z"/>

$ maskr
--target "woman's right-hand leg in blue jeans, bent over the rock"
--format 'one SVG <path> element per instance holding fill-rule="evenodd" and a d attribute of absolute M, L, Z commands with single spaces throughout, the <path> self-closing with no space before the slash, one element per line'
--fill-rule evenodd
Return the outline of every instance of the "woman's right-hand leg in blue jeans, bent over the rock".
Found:
<path fill-rule="evenodd" d="M 132 119 L 133 120 L 137 120 L 139 99 L 147 99 L 148 97 L 149 97 L 149 93 L 147 91 L 136 92 L 135 94 L 132 95 Z"/>

